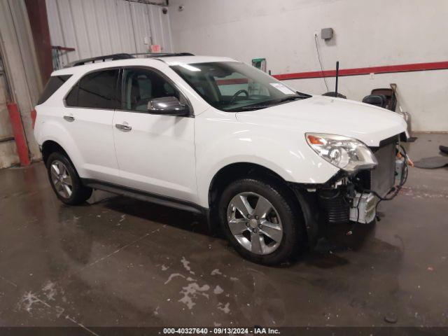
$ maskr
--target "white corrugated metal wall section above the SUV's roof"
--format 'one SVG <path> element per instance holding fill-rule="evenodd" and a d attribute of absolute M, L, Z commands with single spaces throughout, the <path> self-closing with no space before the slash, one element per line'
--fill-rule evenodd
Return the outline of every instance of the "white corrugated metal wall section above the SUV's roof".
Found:
<path fill-rule="evenodd" d="M 58 57 L 62 67 L 77 59 L 117 52 L 148 52 L 159 44 L 172 51 L 169 13 L 161 6 L 127 0 L 46 0 L 52 45 L 75 48 Z"/>

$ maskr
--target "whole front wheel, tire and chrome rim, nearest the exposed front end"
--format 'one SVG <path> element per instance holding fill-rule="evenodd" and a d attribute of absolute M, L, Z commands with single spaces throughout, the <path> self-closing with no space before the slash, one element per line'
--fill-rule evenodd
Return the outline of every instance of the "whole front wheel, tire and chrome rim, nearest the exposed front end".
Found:
<path fill-rule="evenodd" d="M 243 212 L 249 211 L 251 214 L 243 216 Z M 258 179 L 230 183 L 218 202 L 218 216 L 230 244 L 252 262 L 277 265 L 297 255 L 305 246 L 300 211 L 279 184 Z"/>

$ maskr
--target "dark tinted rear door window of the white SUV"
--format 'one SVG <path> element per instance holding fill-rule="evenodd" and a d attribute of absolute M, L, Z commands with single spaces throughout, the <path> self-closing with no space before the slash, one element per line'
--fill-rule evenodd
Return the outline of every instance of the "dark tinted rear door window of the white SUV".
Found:
<path fill-rule="evenodd" d="M 71 89 L 65 99 L 67 106 L 92 109 L 116 109 L 118 69 L 87 73 Z"/>

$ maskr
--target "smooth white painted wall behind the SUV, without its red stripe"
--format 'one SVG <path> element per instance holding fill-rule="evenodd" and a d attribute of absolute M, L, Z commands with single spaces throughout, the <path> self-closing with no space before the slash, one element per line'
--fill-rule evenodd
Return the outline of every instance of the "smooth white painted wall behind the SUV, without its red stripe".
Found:
<path fill-rule="evenodd" d="M 183 10 L 179 11 L 179 6 Z M 170 0 L 177 52 L 230 56 L 250 64 L 266 57 L 272 73 L 319 71 L 314 31 L 324 70 L 446 61 L 447 0 Z M 334 36 L 323 41 L 321 28 Z M 398 84 L 414 130 L 448 131 L 448 70 L 339 78 L 340 92 L 360 100 L 376 87 Z M 297 90 L 321 94 L 322 78 L 288 80 Z M 334 90 L 334 78 L 328 78 Z"/>

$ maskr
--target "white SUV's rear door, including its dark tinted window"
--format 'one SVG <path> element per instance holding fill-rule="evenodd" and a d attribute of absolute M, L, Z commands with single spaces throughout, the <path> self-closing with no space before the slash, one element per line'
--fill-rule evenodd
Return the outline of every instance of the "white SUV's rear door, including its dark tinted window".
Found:
<path fill-rule="evenodd" d="M 78 169 L 81 177 L 109 182 L 118 178 L 112 120 L 114 109 L 120 104 L 119 71 L 102 69 L 87 73 L 66 96 L 64 125 L 82 158 Z"/>

